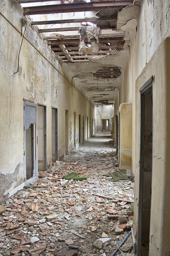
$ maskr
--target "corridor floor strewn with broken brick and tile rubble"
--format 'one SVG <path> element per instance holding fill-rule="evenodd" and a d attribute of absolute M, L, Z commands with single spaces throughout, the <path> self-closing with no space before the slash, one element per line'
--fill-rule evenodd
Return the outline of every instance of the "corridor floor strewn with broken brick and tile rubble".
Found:
<path fill-rule="evenodd" d="M 3 204 L 6 211 L 0 215 L 0 256 L 77 255 L 76 250 L 65 251 L 63 246 L 68 244 L 79 247 L 78 255 L 110 256 L 133 224 L 126 200 L 133 201 L 134 183 L 111 181 L 109 173 L 117 169 L 112 140 L 98 136 L 39 173 L 36 183 Z M 68 182 L 63 176 L 70 172 L 87 179 Z M 118 220 L 121 215 L 127 217 L 123 226 Z M 102 244 L 98 239 L 106 236 L 111 241 Z M 124 256 L 132 248 L 130 237 L 117 255 Z"/>

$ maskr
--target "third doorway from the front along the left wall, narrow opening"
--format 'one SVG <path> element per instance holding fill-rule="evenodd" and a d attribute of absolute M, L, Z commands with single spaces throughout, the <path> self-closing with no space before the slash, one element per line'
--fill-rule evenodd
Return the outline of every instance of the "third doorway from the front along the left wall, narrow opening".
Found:
<path fill-rule="evenodd" d="M 58 109 L 52 108 L 52 162 L 58 160 Z"/>

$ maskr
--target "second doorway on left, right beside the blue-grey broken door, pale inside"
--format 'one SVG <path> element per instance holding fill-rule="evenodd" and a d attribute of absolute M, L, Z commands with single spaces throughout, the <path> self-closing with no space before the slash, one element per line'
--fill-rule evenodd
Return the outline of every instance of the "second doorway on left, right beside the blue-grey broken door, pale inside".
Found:
<path fill-rule="evenodd" d="M 46 171 L 46 106 L 38 105 L 38 171 Z"/>

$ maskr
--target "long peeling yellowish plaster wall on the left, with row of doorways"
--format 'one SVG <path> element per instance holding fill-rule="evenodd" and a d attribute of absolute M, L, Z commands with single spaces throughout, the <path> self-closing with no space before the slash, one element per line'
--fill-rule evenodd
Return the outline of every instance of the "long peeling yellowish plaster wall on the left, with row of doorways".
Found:
<path fill-rule="evenodd" d="M 0 4 L 0 201 L 24 182 L 23 99 L 47 106 L 47 165 L 52 162 L 52 107 L 58 108 L 58 157 L 65 154 L 65 110 L 69 111 L 69 149 L 73 148 L 74 112 L 95 117 L 95 108 L 73 86 L 45 41 L 29 24 L 22 40 L 23 11 L 13 0 Z M 82 125 L 81 125 L 82 131 Z M 76 126 L 78 132 L 78 126 Z M 89 133 L 90 136 L 90 133 Z M 86 121 L 85 121 L 86 137 Z M 83 134 L 81 132 L 81 140 Z M 17 149 L 17 150 L 16 150 Z"/>

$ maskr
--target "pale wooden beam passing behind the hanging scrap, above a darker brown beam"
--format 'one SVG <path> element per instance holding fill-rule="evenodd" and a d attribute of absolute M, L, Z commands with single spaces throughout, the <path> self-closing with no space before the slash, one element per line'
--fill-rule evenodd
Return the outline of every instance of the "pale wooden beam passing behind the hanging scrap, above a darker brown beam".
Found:
<path fill-rule="evenodd" d="M 122 33 L 121 31 L 118 31 L 116 33 L 112 33 L 112 34 L 101 34 L 99 35 L 100 38 L 104 38 L 104 37 L 123 37 L 124 33 Z M 44 36 L 43 39 L 71 39 L 71 38 L 80 38 L 80 35 L 56 35 L 56 36 Z"/>

